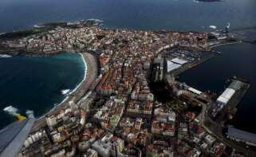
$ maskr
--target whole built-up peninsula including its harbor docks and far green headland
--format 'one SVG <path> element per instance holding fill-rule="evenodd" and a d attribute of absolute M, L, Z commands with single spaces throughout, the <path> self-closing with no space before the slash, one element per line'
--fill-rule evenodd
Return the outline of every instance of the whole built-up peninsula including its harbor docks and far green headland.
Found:
<path fill-rule="evenodd" d="M 41 25 L 0 36 L 2 54 L 73 50 L 87 64 L 85 81 L 37 120 L 19 156 L 255 156 L 256 141 L 238 143 L 221 132 L 249 83 L 232 78 L 227 92 L 216 96 L 178 78 L 219 55 L 211 47 L 238 39 L 225 31 L 104 29 L 100 23 Z"/>

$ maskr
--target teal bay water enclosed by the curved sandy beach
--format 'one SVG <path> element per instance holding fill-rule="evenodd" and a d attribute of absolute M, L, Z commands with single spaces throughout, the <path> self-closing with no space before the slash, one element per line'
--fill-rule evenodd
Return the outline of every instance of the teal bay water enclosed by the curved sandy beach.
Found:
<path fill-rule="evenodd" d="M 3 109 L 12 106 L 23 115 L 36 117 L 61 103 L 63 89 L 73 89 L 83 80 L 85 64 L 79 54 L 60 53 L 46 57 L 0 57 L 0 128 L 15 120 Z M 9 111 L 12 110 L 11 108 Z"/>

